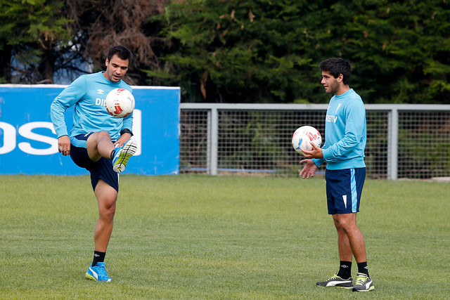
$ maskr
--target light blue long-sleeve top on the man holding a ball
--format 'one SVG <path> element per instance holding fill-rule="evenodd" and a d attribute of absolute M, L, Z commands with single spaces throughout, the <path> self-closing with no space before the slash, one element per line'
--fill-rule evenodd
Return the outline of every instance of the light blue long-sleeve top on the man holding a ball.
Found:
<path fill-rule="evenodd" d="M 323 159 L 313 159 L 320 166 L 327 162 L 329 170 L 364 168 L 366 148 L 366 109 L 361 97 L 349 89 L 330 99 L 325 119 Z"/>

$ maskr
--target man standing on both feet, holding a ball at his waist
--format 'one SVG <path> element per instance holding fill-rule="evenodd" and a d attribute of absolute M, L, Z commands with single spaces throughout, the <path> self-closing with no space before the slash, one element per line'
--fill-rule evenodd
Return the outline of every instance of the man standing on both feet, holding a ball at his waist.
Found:
<path fill-rule="evenodd" d="M 320 63 L 323 87 L 330 99 L 326 112 L 323 148 L 311 143 L 311 151 L 303 150 L 302 178 L 314 176 L 316 169 L 326 165 L 326 195 L 328 214 L 333 216 L 338 231 L 340 268 L 338 273 L 320 287 L 343 287 L 354 292 L 375 289 L 368 274 L 364 237 L 356 226 L 361 192 L 366 178 L 364 149 L 366 148 L 366 110 L 361 97 L 349 87 L 351 66 L 342 58 L 330 58 Z M 358 265 L 356 280 L 351 270 L 353 256 Z"/>

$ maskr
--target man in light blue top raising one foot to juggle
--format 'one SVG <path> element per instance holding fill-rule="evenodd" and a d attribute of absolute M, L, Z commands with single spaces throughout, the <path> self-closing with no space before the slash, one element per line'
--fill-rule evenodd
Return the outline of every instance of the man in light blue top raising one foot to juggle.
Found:
<path fill-rule="evenodd" d="M 113 46 L 105 60 L 106 71 L 78 77 L 51 104 L 51 120 L 58 135 L 58 150 L 70 155 L 73 162 L 91 174 L 91 184 L 98 202 L 98 221 L 94 231 L 94 260 L 86 277 L 110 282 L 105 270 L 106 248 L 113 230 L 115 202 L 119 191 L 119 174 L 136 152 L 131 129 L 133 115 L 111 116 L 104 99 L 113 89 L 131 86 L 122 78 L 133 56 L 124 46 Z M 73 126 L 68 132 L 65 111 L 75 106 Z"/>

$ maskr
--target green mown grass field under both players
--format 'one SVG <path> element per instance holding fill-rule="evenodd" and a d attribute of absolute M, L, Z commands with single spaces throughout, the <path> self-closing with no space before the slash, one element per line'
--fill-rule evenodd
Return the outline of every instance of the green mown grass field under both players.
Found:
<path fill-rule="evenodd" d="M 449 183 L 366 181 L 368 293 L 316 287 L 338 270 L 323 178 L 122 175 L 120 186 L 113 282 L 100 283 L 84 278 L 89 177 L 0 176 L 0 299 L 449 299 Z"/>

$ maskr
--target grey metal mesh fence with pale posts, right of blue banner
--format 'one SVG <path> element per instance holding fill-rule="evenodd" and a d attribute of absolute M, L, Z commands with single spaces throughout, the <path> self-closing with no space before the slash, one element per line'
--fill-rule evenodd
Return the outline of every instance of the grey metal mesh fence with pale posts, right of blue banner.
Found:
<path fill-rule="evenodd" d="M 328 104 L 181 103 L 180 172 L 298 176 L 291 137 Z M 366 105 L 369 178 L 450 176 L 450 105 Z M 325 171 L 325 165 L 319 172 Z"/>

